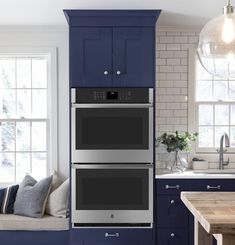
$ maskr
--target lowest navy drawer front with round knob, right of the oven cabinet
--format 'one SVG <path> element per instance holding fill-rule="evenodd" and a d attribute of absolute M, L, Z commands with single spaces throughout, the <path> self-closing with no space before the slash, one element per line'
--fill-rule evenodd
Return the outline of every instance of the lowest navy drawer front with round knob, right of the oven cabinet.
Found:
<path fill-rule="evenodd" d="M 156 245 L 188 245 L 188 230 L 156 228 Z"/>

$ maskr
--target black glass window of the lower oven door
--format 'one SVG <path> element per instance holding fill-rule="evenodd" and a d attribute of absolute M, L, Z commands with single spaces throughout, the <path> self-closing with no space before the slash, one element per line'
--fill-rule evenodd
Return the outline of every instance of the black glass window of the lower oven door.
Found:
<path fill-rule="evenodd" d="M 77 169 L 77 210 L 147 210 L 148 169 Z"/>

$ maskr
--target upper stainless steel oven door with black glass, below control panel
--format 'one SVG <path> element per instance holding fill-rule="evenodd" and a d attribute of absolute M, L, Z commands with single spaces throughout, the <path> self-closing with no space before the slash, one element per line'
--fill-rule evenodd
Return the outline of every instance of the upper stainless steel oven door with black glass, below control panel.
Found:
<path fill-rule="evenodd" d="M 153 107 L 72 107 L 72 162 L 153 162 Z"/>

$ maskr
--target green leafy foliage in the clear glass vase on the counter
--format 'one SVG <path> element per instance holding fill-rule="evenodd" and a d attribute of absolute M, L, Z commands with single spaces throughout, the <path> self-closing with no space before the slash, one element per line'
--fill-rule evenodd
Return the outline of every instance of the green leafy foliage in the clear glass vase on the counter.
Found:
<path fill-rule="evenodd" d="M 189 151 L 190 143 L 197 139 L 198 133 L 178 133 L 176 131 L 174 134 L 164 133 L 157 138 L 157 146 L 160 144 L 166 145 L 168 152 L 172 151 Z"/>

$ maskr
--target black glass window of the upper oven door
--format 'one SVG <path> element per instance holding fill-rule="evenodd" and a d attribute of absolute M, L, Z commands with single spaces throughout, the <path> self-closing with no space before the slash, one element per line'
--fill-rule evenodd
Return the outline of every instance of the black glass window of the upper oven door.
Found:
<path fill-rule="evenodd" d="M 148 149 L 147 108 L 77 108 L 76 149 Z"/>

